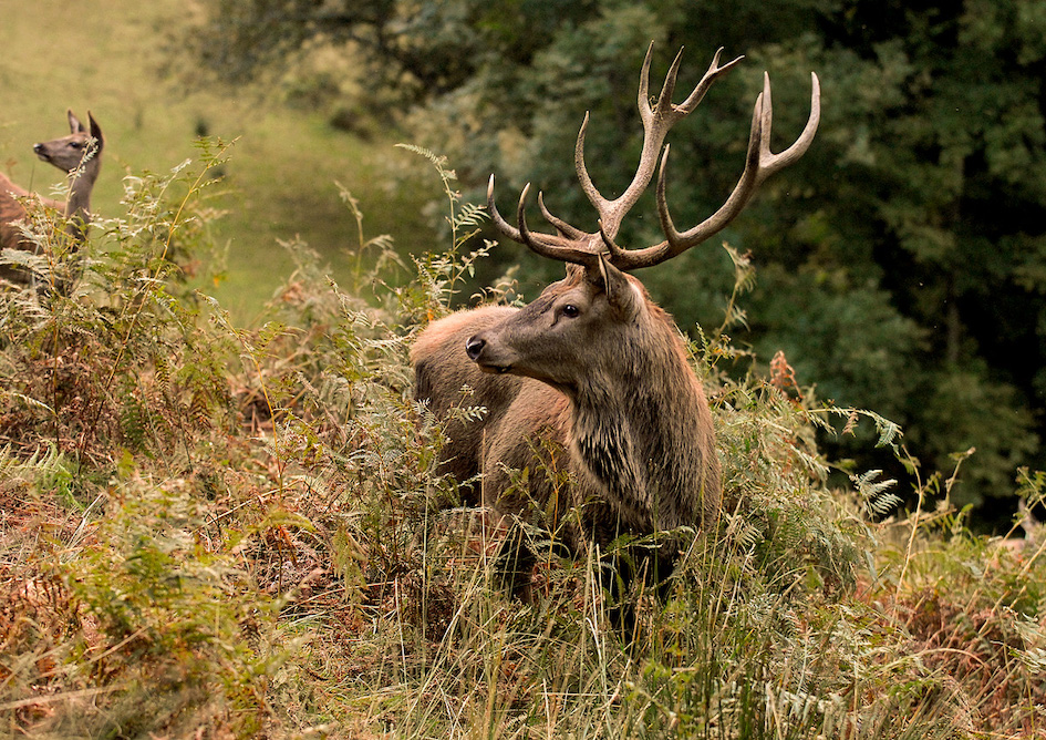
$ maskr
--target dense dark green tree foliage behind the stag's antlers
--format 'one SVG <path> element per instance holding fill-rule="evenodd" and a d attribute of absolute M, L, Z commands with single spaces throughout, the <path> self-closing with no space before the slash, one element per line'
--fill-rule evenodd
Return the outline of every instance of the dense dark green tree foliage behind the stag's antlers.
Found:
<path fill-rule="evenodd" d="M 591 228 L 572 167 L 578 125 L 590 111 L 597 184 L 623 187 L 651 40 L 654 79 L 686 47 L 681 88 L 721 45 L 747 56 L 670 137 L 680 224 L 711 213 L 739 175 L 763 70 L 778 148 L 807 116 L 809 71 L 822 81 L 814 147 L 725 233 L 758 267 L 738 339 L 763 358 L 784 349 L 822 398 L 900 422 L 930 467 L 976 448 L 960 503 L 1011 495 L 1017 466 L 1046 463 L 1043 3 L 211 0 L 195 48 L 238 79 L 318 44 L 353 54 L 373 100 L 410 107 L 408 135 L 450 155 L 463 182 L 478 192 L 497 172 L 506 205 L 532 182 Z M 652 203 L 634 214 L 622 240 L 657 239 Z M 717 325 L 728 264 L 706 245 L 644 281 L 681 326 Z M 535 279 L 556 269 L 528 266 Z"/>

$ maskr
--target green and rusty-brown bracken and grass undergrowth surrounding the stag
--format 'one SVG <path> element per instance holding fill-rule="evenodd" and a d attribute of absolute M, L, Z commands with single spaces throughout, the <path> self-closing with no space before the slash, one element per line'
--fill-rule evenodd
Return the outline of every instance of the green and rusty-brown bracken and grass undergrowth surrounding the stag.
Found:
<path fill-rule="evenodd" d="M 818 435 L 900 430 L 821 403 L 787 358 L 693 345 L 728 506 L 681 533 L 662 604 L 609 627 L 596 554 L 548 556 L 531 598 L 491 585 L 499 533 L 434 473 L 441 421 L 407 352 L 491 245 L 431 153 L 448 248 L 405 264 L 358 224 L 352 284 L 304 244 L 260 328 L 220 271 L 210 173 L 128 176 L 70 296 L 0 294 L 0 732 L 15 737 L 957 738 L 1046 729 L 1046 538 L 976 537 L 950 477 L 892 482 Z M 514 297 L 511 281 L 488 298 Z M 463 418 L 481 409 L 462 409 Z M 845 473 L 845 474 L 842 474 Z M 848 477 L 849 476 L 849 477 Z M 843 483 L 840 483 L 842 481 Z M 848 481 L 848 483 L 847 483 Z M 1042 502 L 1046 476 L 1018 493 Z"/>

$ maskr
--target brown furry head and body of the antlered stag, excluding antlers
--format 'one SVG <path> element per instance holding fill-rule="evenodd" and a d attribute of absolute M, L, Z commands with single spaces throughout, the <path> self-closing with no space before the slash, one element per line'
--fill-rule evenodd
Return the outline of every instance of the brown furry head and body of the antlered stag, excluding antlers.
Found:
<path fill-rule="evenodd" d="M 568 305 L 580 315 L 567 317 Z M 574 552 L 716 516 L 711 411 L 679 329 L 634 277 L 608 265 L 599 274 L 572 268 L 525 309 L 487 307 L 434 322 L 412 358 L 417 397 L 435 413 L 462 403 L 465 383 L 474 393 L 464 403 L 488 409 L 478 422 L 450 424 L 444 458 L 458 480 L 483 473 L 483 504 L 525 515 L 532 499 L 558 516 L 581 512 L 580 526 L 563 530 Z M 542 435 L 566 451 L 550 464 L 576 477 L 569 501 L 553 500 L 557 480 L 536 464 Z M 525 467 L 530 490 L 521 492 L 508 470 Z"/>

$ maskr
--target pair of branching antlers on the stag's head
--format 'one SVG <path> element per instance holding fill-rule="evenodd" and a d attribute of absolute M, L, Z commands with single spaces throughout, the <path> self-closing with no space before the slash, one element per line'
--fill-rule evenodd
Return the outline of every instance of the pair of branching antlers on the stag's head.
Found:
<path fill-rule="evenodd" d="M 688 115 L 701 100 L 704 97 L 708 88 L 718 78 L 725 74 L 731 68 L 737 64 L 743 56 L 719 65 L 719 54 L 722 49 L 715 52 L 712 58 L 712 64 L 705 72 L 701 82 L 694 88 L 693 92 L 680 105 L 672 103 L 672 94 L 675 92 L 675 78 L 679 73 L 680 61 L 683 51 L 675 55 L 669 73 L 665 75 L 664 85 L 661 94 L 657 96 L 656 104 L 652 107 L 649 97 L 650 83 L 650 60 L 653 53 L 653 43 L 646 50 L 646 58 L 643 60 L 643 69 L 640 72 L 639 84 L 639 111 L 643 121 L 643 151 L 640 155 L 639 167 L 632 183 L 625 191 L 613 201 L 605 198 L 592 183 L 588 168 L 584 165 L 584 132 L 588 129 L 589 115 L 584 114 L 584 121 L 581 123 L 581 131 L 578 133 L 578 144 L 574 148 L 574 165 L 578 171 L 578 179 L 581 183 L 581 189 L 588 196 L 589 202 L 599 213 L 599 230 L 588 233 L 574 226 L 571 226 L 561 218 L 557 218 L 545 206 L 545 198 L 538 194 L 538 206 L 541 214 L 558 234 L 543 234 L 531 232 L 527 227 L 526 204 L 527 195 L 530 192 L 530 185 L 524 187 L 519 196 L 519 206 L 517 208 L 518 228 L 509 224 L 498 213 L 494 203 L 494 175 L 490 175 L 490 182 L 487 185 L 487 204 L 490 210 L 491 219 L 498 230 L 508 238 L 526 244 L 531 250 L 545 257 L 558 259 L 561 261 L 576 263 L 594 267 L 599 260 L 599 255 L 610 255 L 610 261 L 622 270 L 633 270 L 640 267 L 650 267 L 659 265 L 676 255 L 682 254 L 696 244 L 704 241 L 713 236 L 727 224 L 729 224 L 739 214 L 755 195 L 759 185 L 767 177 L 778 169 L 787 167 L 800 156 L 802 156 L 810 142 L 814 141 L 814 134 L 817 133 L 817 124 L 820 121 L 820 84 L 817 74 L 812 75 L 814 92 L 810 100 L 810 117 L 806 127 L 799 135 L 799 138 L 787 150 L 779 154 L 770 152 L 770 129 L 773 126 L 773 111 L 770 104 L 770 79 L 769 75 L 763 75 L 763 92 L 756 99 L 755 110 L 752 115 L 752 134 L 748 138 L 748 154 L 745 160 L 745 171 L 734 187 L 733 193 L 726 199 L 718 210 L 712 216 L 698 224 L 694 228 L 680 233 L 672 223 L 669 215 L 669 205 L 665 199 L 665 165 L 669 158 L 669 147 L 665 145 L 664 153 L 661 156 L 661 169 L 657 175 L 657 213 L 661 217 L 662 229 L 665 234 L 665 240 L 661 244 L 645 247 L 643 249 L 623 249 L 619 247 L 614 239 L 621 227 L 624 216 L 632 209 L 640 195 L 650 185 L 654 174 L 654 167 L 657 164 L 657 153 L 669 131 L 679 122 Z"/>

